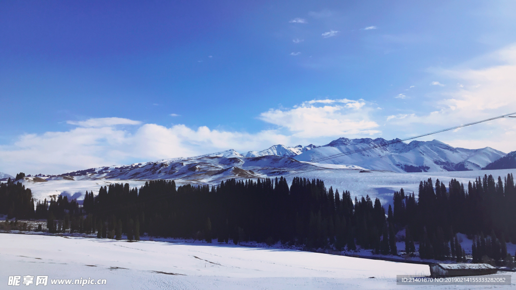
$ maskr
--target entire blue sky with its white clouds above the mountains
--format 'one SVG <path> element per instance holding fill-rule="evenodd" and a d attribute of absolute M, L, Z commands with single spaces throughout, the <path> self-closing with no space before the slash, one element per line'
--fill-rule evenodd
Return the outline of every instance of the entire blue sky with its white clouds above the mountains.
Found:
<path fill-rule="evenodd" d="M 516 111 L 513 1 L 0 2 L 0 171 L 404 138 Z M 516 150 L 514 121 L 433 136 Z"/>

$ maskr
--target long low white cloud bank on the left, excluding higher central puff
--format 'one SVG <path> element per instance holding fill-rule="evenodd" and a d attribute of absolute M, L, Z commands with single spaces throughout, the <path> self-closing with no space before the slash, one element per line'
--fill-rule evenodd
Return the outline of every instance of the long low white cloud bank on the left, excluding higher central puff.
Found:
<path fill-rule="evenodd" d="M 275 130 L 249 134 L 210 130 L 206 126 L 193 129 L 183 124 L 166 127 L 137 121 L 132 123 L 139 126 L 126 130 L 116 126 L 119 123 L 104 122 L 104 126 L 97 126 L 103 121 L 87 121 L 97 122 L 95 126 L 80 126 L 65 132 L 23 134 L 13 144 L 0 146 L 2 171 L 60 174 L 231 148 L 244 151 L 290 143 L 288 136 Z"/>

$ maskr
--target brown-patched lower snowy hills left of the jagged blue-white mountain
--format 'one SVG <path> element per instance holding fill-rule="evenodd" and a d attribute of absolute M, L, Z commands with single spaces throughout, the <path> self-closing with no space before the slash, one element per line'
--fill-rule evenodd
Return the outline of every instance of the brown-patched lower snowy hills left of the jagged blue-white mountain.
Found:
<path fill-rule="evenodd" d="M 27 182 L 42 180 L 156 180 L 173 179 L 183 183 L 217 184 L 231 178 L 266 178 L 289 173 L 322 169 L 298 160 L 265 155 L 244 157 L 235 150 L 227 150 L 195 157 L 163 159 L 156 162 L 122 166 L 90 168 L 60 175 L 35 175 L 26 177 Z M 350 170 L 363 168 L 350 167 Z M 39 180 L 33 180 L 33 179 Z"/>

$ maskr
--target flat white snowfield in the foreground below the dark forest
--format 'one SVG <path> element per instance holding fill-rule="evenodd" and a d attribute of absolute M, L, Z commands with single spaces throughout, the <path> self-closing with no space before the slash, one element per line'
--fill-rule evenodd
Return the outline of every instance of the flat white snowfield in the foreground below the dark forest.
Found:
<path fill-rule="evenodd" d="M 109 289 L 386 289 L 400 287 L 396 275 L 429 275 L 427 265 L 225 244 L 5 233 L 0 240 L 0 285 L 7 285 L 8 276 L 47 275 L 49 284 L 106 279 L 106 286 L 85 287 Z"/>

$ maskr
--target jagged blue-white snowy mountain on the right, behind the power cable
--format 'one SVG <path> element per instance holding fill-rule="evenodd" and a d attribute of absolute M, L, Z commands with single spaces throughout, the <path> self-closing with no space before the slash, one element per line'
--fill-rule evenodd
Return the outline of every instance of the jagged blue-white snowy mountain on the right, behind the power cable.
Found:
<path fill-rule="evenodd" d="M 372 150 L 319 160 L 335 154 L 381 146 L 394 140 L 347 139 L 339 138 L 325 146 L 296 155 L 296 160 L 329 164 L 357 165 L 372 170 L 390 170 L 395 172 L 433 172 L 479 170 L 505 153 L 486 147 L 483 149 L 454 148 L 440 142 L 412 141 L 398 142 Z"/>

